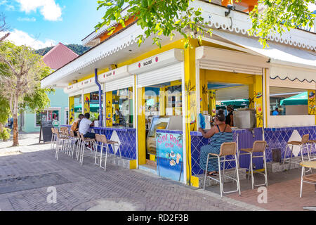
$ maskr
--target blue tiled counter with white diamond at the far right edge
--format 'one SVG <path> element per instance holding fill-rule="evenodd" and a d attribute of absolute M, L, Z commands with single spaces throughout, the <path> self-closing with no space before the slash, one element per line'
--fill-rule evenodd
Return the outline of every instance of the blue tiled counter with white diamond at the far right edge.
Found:
<path fill-rule="evenodd" d="M 280 148 L 281 157 L 284 158 L 285 148 L 289 141 L 293 131 L 297 130 L 298 134 L 304 136 L 310 135 L 310 140 L 316 140 L 316 126 L 310 127 L 282 127 L 282 128 L 265 128 L 265 141 L 268 143 L 267 161 L 272 161 L 272 149 Z M 312 146 L 312 153 L 315 153 L 315 148 Z M 290 157 L 290 151 L 288 150 L 287 158 Z"/>

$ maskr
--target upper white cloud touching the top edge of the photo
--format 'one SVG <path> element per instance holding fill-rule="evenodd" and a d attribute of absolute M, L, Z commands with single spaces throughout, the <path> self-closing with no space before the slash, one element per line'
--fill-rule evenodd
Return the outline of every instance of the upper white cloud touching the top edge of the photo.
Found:
<path fill-rule="evenodd" d="M 25 13 L 36 12 L 39 9 L 45 20 L 62 20 L 62 8 L 55 0 L 15 0 L 20 3 L 20 10 Z"/>

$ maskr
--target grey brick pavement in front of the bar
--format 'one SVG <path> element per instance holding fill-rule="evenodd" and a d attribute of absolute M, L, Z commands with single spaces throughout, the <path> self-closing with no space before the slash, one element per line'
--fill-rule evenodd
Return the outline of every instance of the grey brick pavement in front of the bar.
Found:
<path fill-rule="evenodd" d="M 49 144 L 31 147 L 19 147 L 20 155 L 0 157 L 1 210 L 262 210 L 138 169 L 109 165 L 104 172 L 91 158 L 81 166 L 63 154 L 57 162 Z M 48 187 L 56 188 L 55 204 L 47 202 L 52 190 Z"/>

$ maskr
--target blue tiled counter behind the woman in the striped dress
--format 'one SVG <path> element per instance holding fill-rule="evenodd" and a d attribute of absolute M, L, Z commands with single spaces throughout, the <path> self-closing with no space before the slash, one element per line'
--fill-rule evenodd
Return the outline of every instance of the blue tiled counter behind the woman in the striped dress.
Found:
<path fill-rule="evenodd" d="M 254 141 L 262 141 L 263 129 L 257 128 L 252 131 L 249 129 L 237 129 L 233 130 L 234 141 L 238 141 L 238 148 L 252 148 Z M 203 170 L 199 167 L 199 156 L 202 146 L 206 146 L 210 143 L 211 139 L 204 139 L 202 134 L 197 131 L 191 132 L 191 155 L 192 155 L 192 175 L 203 174 Z M 242 168 L 249 167 L 249 156 L 241 155 L 239 158 L 239 165 Z M 254 158 L 254 164 L 256 169 L 263 168 L 263 160 L 261 158 Z M 235 167 L 235 162 L 230 162 L 225 165 L 225 168 L 230 169 Z"/>

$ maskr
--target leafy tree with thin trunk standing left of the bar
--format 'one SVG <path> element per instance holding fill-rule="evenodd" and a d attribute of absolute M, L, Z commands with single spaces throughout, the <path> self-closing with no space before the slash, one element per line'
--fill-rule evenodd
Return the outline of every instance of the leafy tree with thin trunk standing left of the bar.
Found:
<path fill-rule="evenodd" d="M 13 116 L 13 146 L 18 146 L 18 113 L 25 108 L 43 109 L 49 104 L 40 81 L 51 70 L 41 56 L 27 46 L 15 46 L 9 41 L 0 44 L 0 96 L 8 101 Z"/>

